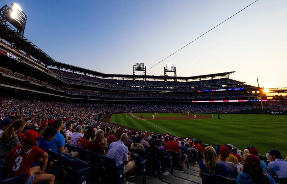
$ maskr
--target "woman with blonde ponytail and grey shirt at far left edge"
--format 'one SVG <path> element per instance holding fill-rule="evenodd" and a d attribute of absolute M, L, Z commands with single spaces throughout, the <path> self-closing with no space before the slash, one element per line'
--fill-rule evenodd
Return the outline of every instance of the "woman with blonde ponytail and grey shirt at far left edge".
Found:
<path fill-rule="evenodd" d="M 6 155 L 15 146 L 21 145 L 17 136 L 24 127 L 26 122 L 24 120 L 16 120 L 9 128 L 0 134 L 0 155 Z M 3 166 L 5 159 L 0 160 L 0 164 Z"/>

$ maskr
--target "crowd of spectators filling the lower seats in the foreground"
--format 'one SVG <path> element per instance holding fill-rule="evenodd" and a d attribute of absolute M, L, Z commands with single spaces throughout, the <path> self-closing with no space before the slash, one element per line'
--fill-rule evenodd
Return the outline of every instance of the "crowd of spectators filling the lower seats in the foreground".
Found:
<path fill-rule="evenodd" d="M 244 183 L 245 180 L 249 183 L 275 183 L 273 177 L 287 178 L 287 161 L 277 149 L 271 149 L 266 153 L 267 160 L 260 160 L 260 150 L 253 146 L 248 146 L 247 149 L 241 148 L 241 150 L 244 149 L 243 151 L 231 144 L 217 145 L 214 149 L 212 146 L 205 147 L 202 144 L 203 141 L 197 141 L 194 137 L 184 139 L 168 132 L 159 134 L 126 129 L 94 120 L 95 107 L 84 107 L 87 104 L 83 103 L 75 105 L 10 98 L 1 98 L 0 102 L 0 155 L 6 154 L 5 159 L 0 161 L 1 164 L 9 167 L 8 178 L 27 173 L 29 174 L 27 182 L 34 179 L 35 182 L 53 183 L 55 180 L 54 175 L 51 175 L 53 164 L 48 162 L 47 149 L 66 153 L 74 158 L 79 157 L 78 152 L 69 152 L 65 143 L 115 158 L 116 165 L 124 163 L 124 183 L 130 183 L 128 179 L 132 176 L 135 167 L 135 163 L 129 161 L 129 148 L 130 151 L 137 149 L 139 155 L 144 152 L 156 154 L 161 163 L 164 163 L 161 150 L 177 152 L 181 158 L 181 164 L 177 168 L 180 171 L 185 170 L 187 161 L 185 150 L 192 151 L 198 155 L 194 163 L 200 168 L 200 177 L 203 177 L 203 173 L 216 174 L 235 178 L 237 183 Z M 137 108 L 139 107 L 147 106 L 141 105 Z M 152 106 L 149 105 L 149 108 Z M 39 135 L 34 130 L 20 133 L 26 127 L 42 131 Z M 10 135 L 13 137 L 11 138 Z M 20 141 L 18 137 L 21 138 Z M 107 153 L 103 146 L 108 148 Z M 22 148 L 25 148 L 23 153 L 15 151 Z M 33 154 L 24 152 L 29 149 Z M 18 171 L 11 166 L 14 162 L 18 162 L 15 159 L 19 154 L 25 158 L 25 164 Z M 36 166 L 33 165 L 35 159 Z M 161 166 L 162 175 L 168 175 L 165 165 Z M 34 175 L 35 173 L 37 175 Z"/>

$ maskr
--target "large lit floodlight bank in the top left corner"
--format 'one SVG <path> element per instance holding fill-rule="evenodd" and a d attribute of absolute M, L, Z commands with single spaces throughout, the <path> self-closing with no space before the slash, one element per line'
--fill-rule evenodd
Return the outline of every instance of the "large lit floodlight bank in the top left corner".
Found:
<path fill-rule="evenodd" d="M 17 33 L 24 35 L 24 30 L 27 23 L 27 15 L 22 11 L 18 4 L 11 4 L 9 7 L 7 4 L 0 9 L 0 20 L 7 24 L 7 21 L 11 23 L 16 29 Z"/>

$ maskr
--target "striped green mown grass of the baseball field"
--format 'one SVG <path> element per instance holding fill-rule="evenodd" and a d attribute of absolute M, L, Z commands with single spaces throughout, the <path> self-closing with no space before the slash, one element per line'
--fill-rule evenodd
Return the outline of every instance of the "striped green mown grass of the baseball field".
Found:
<path fill-rule="evenodd" d="M 151 117 L 152 114 L 135 114 Z M 211 114 L 206 114 L 211 116 Z M 178 116 L 158 114 L 158 116 Z M 156 116 L 156 117 L 158 117 Z M 260 114 L 217 114 L 202 120 L 138 120 L 127 114 L 113 114 L 113 123 L 136 130 L 162 133 L 202 140 L 204 144 L 232 144 L 238 149 L 255 146 L 259 154 L 266 155 L 270 149 L 278 149 L 287 156 L 287 116 Z"/>

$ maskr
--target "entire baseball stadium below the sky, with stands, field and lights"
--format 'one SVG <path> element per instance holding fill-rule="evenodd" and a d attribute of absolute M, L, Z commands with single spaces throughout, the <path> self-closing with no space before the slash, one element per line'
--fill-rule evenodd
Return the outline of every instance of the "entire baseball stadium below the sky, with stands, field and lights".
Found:
<path fill-rule="evenodd" d="M 272 165 L 272 162 L 280 159 L 284 162 L 287 158 L 287 87 L 264 88 L 259 82 L 258 85 L 246 84 L 240 78 L 233 79 L 236 71 L 211 74 L 202 71 L 202 75 L 181 76 L 175 64 L 166 64 L 163 74 L 158 72 L 158 75 L 148 75 L 147 68 L 151 66 L 144 62 L 125 66 L 133 70 L 133 74 L 106 74 L 73 66 L 54 60 L 30 41 L 33 38 L 24 37 L 27 15 L 17 4 L 3 6 L 0 13 L 0 118 L 3 130 L 0 150 L 9 149 L 0 151 L 3 159 L 0 183 L 25 183 L 31 176 L 34 176 L 34 183 L 237 183 L 242 172 L 238 167 L 247 165 L 245 153 L 248 158 L 254 159 L 255 155 L 255 159 L 260 159 L 263 172 L 265 163 L 264 173 L 269 173 L 273 182 L 286 183 L 287 177 L 276 176 L 269 165 L 270 170 L 267 170 L 266 162 Z M 19 120 L 25 121 L 22 129 L 15 127 Z M 62 129 L 56 127 L 58 121 L 62 122 Z M 55 138 L 43 137 L 53 126 L 57 130 L 56 136 L 62 132 L 65 139 L 56 151 L 52 149 L 55 145 L 51 145 Z M 42 156 L 33 158 L 41 157 L 42 162 L 36 162 L 28 173 L 18 172 L 22 160 L 15 161 L 19 170 L 12 167 L 15 155 L 11 150 L 15 147 L 3 147 L 10 145 L 4 141 L 5 132 L 10 129 L 16 137 L 14 146 L 20 148 L 27 146 L 27 136 L 32 131 L 37 132 L 37 138 L 45 139 L 48 149 L 41 152 Z M 81 136 L 73 144 L 78 131 L 82 131 Z M 103 142 L 99 140 L 101 131 L 105 135 Z M 87 147 L 79 146 L 78 141 L 85 136 L 89 138 L 86 138 L 89 140 Z M 109 142 L 110 136 L 115 137 L 115 141 Z M 125 146 L 125 141 L 133 136 L 132 144 Z M 18 141 L 17 137 L 22 138 Z M 141 142 L 146 140 L 148 144 L 147 147 L 140 145 L 144 145 L 145 151 L 131 148 L 131 145 L 141 143 L 137 142 L 139 137 Z M 129 160 L 124 157 L 124 162 L 118 164 L 112 155 L 116 152 L 116 142 L 121 141 L 129 150 Z M 38 142 L 29 149 L 37 147 Z M 90 147 L 90 142 L 96 142 L 100 148 Z M 181 154 L 174 154 L 168 142 L 176 143 Z M 163 145 L 167 149 L 161 150 Z M 151 149 L 152 146 L 155 148 Z M 227 167 L 229 178 L 228 175 L 205 173 L 206 148 L 219 154 L 219 163 L 224 152 L 221 150 L 229 149 L 229 155 L 235 154 L 238 158 L 233 164 L 236 172 Z M 153 153 L 155 150 L 160 153 Z M 29 152 L 23 154 L 26 154 L 23 160 L 34 161 Z M 13 164 L 9 166 L 8 161 Z M 125 171 L 129 163 L 135 165 L 132 170 Z M 25 164 L 29 165 L 28 162 Z M 46 167 L 45 172 L 43 167 Z M 281 172 L 286 176 L 286 164 L 284 170 Z M 39 173 L 31 175 L 31 171 Z"/>

